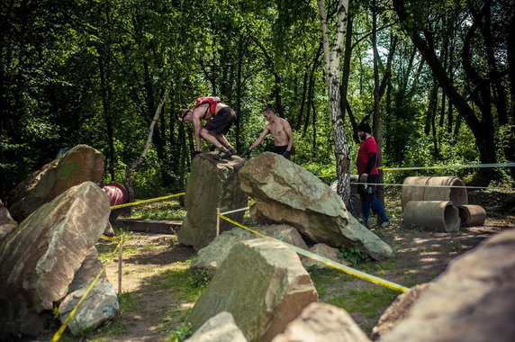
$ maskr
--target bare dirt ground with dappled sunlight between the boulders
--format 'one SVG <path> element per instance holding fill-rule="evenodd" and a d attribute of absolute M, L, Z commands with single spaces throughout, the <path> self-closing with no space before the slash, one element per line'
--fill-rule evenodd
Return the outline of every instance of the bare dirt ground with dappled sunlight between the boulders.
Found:
<path fill-rule="evenodd" d="M 500 195 L 493 196 L 490 200 L 489 196 L 490 193 L 476 196 L 474 199 L 474 202 L 481 202 L 489 211 L 484 225 L 462 228 L 458 233 L 404 229 L 398 203 L 391 203 L 388 210 L 393 224 L 388 229 L 375 230 L 375 233 L 393 247 L 395 257 L 382 263 L 368 262 L 357 268 L 407 287 L 431 281 L 446 269 L 452 259 L 477 246 L 484 238 L 489 238 L 503 229 L 515 228 L 513 213 L 495 212 L 500 210 L 499 205 L 504 203 L 499 201 Z M 194 302 L 177 293 L 173 285 L 167 284 L 167 278 L 177 275 L 178 278 L 174 278 L 177 280 L 187 276 L 185 271 L 188 260 L 194 255 L 193 248 L 177 244 L 174 235 L 131 233 L 124 246 L 122 293 L 131 293 L 134 300 L 133 308 L 122 312 L 121 321 L 124 329 L 121 332 L 114 333 L 113 328 L 103 328 L 87 339 L 169 340 L 171 331 L 184 323 L 188 308 L 191 308 Z M 107 276 L 118 290 L 118 265 L 117 260 L 114 261 L 107 266 Z M 331 271 L 334 272 L 314 271 L 315 275 L 329 280 L 324 282 L 323 290 L 319 291 L 320 302 L 330 302 L 331 298 L 340 293 L 348 293 L 352 289 L 363 291 L 379 286 L 336 270 Z M 396 293 L 393 294 L 392 300 L 395 295 Z M 389 303 L 385 303 L 377 314 L 360 311 L 350 311 L 350 314 L 369 334 Z"/>

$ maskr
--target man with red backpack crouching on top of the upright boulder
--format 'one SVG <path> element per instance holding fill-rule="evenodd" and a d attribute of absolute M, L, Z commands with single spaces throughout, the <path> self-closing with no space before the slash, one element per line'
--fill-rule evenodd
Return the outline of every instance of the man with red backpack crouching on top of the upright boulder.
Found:
<path fill-rule="evenodd" d="M 218 148 L 215 159 L 220 160 L 236 154 L 225 135 L 236 119 L 236 113 L 218 97 L 199 97 L 193 109 L 181 112 L 181 121 L 193 122 L 196 149 L 192 157 L 201 153 L 201 137 Z M 207 123 L 202 127 L 201 121 Z"/>

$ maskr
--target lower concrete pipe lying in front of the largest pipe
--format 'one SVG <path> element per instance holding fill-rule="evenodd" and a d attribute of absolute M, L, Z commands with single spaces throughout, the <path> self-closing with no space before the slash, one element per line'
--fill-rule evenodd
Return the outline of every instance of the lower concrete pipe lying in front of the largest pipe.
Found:
<path fill-rule="evenodd" d="M 404 226 L 425 227 L 434 231 L 457 231 L 460 219 L 451 201 L 410 201 L 402 214 Z"/>

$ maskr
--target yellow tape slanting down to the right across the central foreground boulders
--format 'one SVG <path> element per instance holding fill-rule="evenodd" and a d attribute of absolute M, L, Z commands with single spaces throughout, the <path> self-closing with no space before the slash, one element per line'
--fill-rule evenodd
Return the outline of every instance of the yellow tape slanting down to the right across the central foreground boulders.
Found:
<path fill-rule="evenodd" d="M 223 220 L 227 220 L 229 221 L 230 223 L 232 224 L 235 224 L 237 225 L 238 227 L 240 228 L 243 228 L 243 229 L 247 229 L 248 231 L 251 231 L 253 232 L 254 234 L 257 234 L 258 236 L 262 237 L 262 238 L 271 238 L 271 237 L 268 237 L 267 235 L 257 231 L 257 230 L 254 230 L 254 229 L 250 229 L 244 225 L 242 225 L 241 223 L 235 221 L 235 220 L 230 220 L 230 218 L 228 217 L 225 217 L 221 214 L 219 214 L 218 216 L 221 217 L 221 219 Z M 349 266 L 345 266 L 345 265 L 342 265 L 342 264 L 339 264 L 335 261 L 332 261 L 326 257 L 321 257 L 321 256 L 318 256 L 312 252 L 309 252 L 307 250 L 304 250 L 302 248 L 299 248 L 299 247 L 296 247 L 294 245 L 291 245 L 285 241 L 281 241 L 280 239 L 278 238 L 274 238 L 275 240 L 285 244 L 286 246 L 288 247 L 291 247 L 294 249 L 295 252 L 297 252 L 298 254 L 301 254 L 303 255 L 304 257 L 309 257 L 315 261 L 319 261 L 321 262 L 322 264 L 325 264 L 327 266 L 330 266 L 330 267 L 333 267 L 333 268 L 336 268 L 336 269 L 339 269 L 340 271 L 343 271 L 345 273 L 347 273 L 348 275 L 354 275 L 358 278 L 361 278 L 361 279 L 364 279 L 370 283 L 374 283 L 374 284 L 378 284 L 378 285 L 382 285 L 384 287 L 387 287 L 389 289 L 392 289 L 392 290 L 395 290 L 395 291 L 399 291 L 399 292 L 402 292 L 402 293 L 405 293 L 407 291 L 410 290 L 410 288 L 408 287 L 405 287 L 405 286 L 402 286 L 402 285 L 399 285 L 399 284 L 395 284 L 395 283 L 392 283 L 392 282 L 389 282 L 387 280 L 384 280 L 382 278 L 379 278 L 379 277 L 376 277 L 375 275 L 367 275 L 366 273 L 364 272 L 361 272 L 361 271 L 358 271 L 357 269 L 354 269 L 352 267 L 349 267 Z"/>

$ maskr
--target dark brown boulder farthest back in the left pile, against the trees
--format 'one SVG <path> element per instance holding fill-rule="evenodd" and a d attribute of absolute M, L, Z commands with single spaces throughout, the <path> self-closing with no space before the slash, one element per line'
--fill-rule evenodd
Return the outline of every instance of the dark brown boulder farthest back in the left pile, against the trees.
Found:
<path fill-rule="evenodd" d="M 20 222 L 70 187 L 86 181 L 98 183 L 103 175 L 104 155 L 87 145 L 77 145 L 32 173 L 9 193 L 6 204 L 14 220 Z"/>

